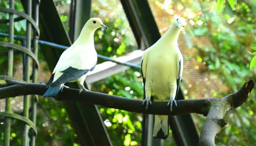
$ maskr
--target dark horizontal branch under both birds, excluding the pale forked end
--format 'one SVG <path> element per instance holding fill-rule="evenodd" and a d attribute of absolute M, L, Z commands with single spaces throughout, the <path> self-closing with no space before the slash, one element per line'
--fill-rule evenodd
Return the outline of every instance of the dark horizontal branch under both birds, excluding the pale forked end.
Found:
<path fill-rule="evenodd" d="M 0 88 L 0 99 L 22 95 L 43 95 L 46 90 L 47 88 L 44 84 L 26 83 L 11 80 L 5 85 L 4 88 Z M 55 99 L 82 101 L 86 103 L 102 105 L 108 108 L 158 115 L 181 115 L 188 113 L 207 115 L 210 101 L 214 100 L 214 98 L 178 100 L 178 106 L 173 109 L 172 113 L 170 113 L 170 108 L 167 107 L 167 102 L 153 102 L 152 105 L 148 107 L 148 110 L 145 110 L 145 107 L 142 105 L 142 100 L 129 99 L 92 91 L 83 91 L 79 95 L 79 90 L 72 88 L 64 88 L 63 92 L 59 92 Z"/>

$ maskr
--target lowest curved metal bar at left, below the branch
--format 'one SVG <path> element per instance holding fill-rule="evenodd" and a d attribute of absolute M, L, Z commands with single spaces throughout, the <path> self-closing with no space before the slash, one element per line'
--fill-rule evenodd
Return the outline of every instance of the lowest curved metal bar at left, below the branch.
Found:
<path fill-rule="evenodd" d="M 13 118 L 13 119 L 18 119 L 18 120 L 21 120 L 21 121 L 27 123 L 34 130 L 35 135 L 37 135 L 37 127 L 35 127 L 35 124 L 30 119 L 27 119 L 23 116 L 20 116 L 20 115 L 11 113 L 11 112 L 0 112 L 0 116 L 5 116 L 5 117 Z"/>

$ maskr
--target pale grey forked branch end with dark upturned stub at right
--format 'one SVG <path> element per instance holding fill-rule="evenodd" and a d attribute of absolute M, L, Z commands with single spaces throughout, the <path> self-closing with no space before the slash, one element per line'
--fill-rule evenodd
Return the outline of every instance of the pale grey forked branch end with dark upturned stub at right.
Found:
<path fill-rule="evenodd" d="M 239 91 L 225 97 L 212 100 L 210 110 L 199 138 L 199 146 L 215 146 L 216 135 L 226 127 L 223 119 L 226 112 L 242 105 L 249 97 L 255 83 L 245 82 Z"/>

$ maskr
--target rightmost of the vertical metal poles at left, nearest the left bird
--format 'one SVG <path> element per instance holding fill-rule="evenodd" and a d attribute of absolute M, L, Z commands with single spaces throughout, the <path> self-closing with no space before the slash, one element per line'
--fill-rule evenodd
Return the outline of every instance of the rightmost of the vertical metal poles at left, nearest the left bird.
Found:
<path fill-rule="evenodd" d="M 33 7 L 33 19 L 37 23 L 37 26 L 39 24 L 39 1 L 34 0 L 34 7 Z M 37 57 L 38 55 L 38 36 L 36 34 L 36 30 L 34 29 L 33 31 L 33 49 L 34 49 L 34 54 Z M 37 64 L 35 61 L 33 61 L 33 70 L 32 70 L 32 82 L 37 82 Z M 31 99 L 31 106 L 32 106 L 32 117 L 31 120 L 32 122 L 36 125 L 36 111 L 37 111 L 37 99 L 38 96 L 34 95 Z M 32 130 L 33 131 L 33 130 Z M 35 133 L 32 133 L 31 136 L 31 146 L 35 146 Z"/>

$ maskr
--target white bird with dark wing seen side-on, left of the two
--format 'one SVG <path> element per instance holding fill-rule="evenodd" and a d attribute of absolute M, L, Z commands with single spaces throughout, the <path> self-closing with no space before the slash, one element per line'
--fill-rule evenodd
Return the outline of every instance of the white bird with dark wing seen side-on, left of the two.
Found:
<path fill-rule="evenodd" d="M 43 97 L 56 96 L 62 91 L 65 82 L 77 82 L 80 87 L 79 94 L 87 90 L 83 85 L 86 73 L 92 71 L 97 63 L 94 32 L 101 27 L 108 29 L 99 18 L 91 18 L 86 22 L 78 39 L 61 54 L 46 84 L 49 88 Z"/>

